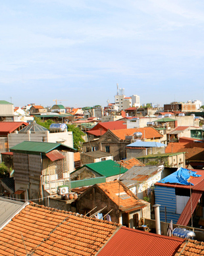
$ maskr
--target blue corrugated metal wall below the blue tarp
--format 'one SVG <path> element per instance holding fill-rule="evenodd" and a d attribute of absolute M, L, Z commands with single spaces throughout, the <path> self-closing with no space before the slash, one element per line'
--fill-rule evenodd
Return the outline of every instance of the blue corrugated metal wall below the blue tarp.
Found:
<path fill-rule="evenodd" d="M 155 186 L 155 203 L 159 203 L 160 219 L 165 221 L 166 207 L 166 222 L 173 221 L 176 224 L 180 215 L 176 214 L 176 195 L 174 188 Z"/>

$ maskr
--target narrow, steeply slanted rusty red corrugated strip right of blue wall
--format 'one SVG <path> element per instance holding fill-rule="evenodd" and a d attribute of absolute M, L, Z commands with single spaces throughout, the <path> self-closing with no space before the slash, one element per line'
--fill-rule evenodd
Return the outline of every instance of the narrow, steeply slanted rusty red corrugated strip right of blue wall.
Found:
<path fill-rule="evenodd" d="M 190 221 L 190 218 L 191 218 L 191 208 L 192 208 L 192 214 L 193 214 L 193 211 L 195 210 L 195 207 L 197 206 L 197 203 L 201 198 L 202 194 L 203 192 L 197 192 L 197 191 L 193 191 L 191 193 L 191 198 L 188 200 L 188 203 L 186 203 L 186 206 L 182 211 L 182 214 L 180 215 L 180 218 L 178 219 L 178 222 L 176 224 L 182 225 L 182 226 L 188 225 L 188 222 Z"/>

